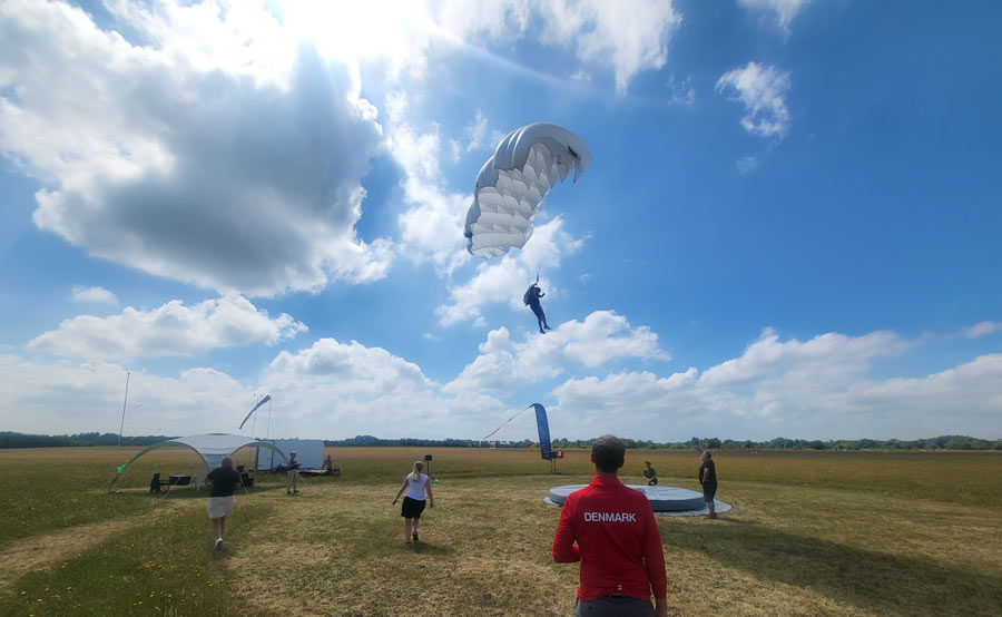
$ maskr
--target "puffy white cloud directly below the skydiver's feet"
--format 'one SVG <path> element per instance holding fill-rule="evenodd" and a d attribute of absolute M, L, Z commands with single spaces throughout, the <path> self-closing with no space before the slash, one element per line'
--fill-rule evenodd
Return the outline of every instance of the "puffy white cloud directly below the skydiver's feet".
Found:
<path fill-rule="evenodd" d="M 509 390 L 626 359 L 668 360 L 668 355 L 658 349 L 658 336 L 647 326 L 630 327 L 621 315 L 596 311 L 583 322 L 566 322 L 523 343 L 511 341 L 505 327 L 489 332 L 480 355 L 443 390 Z"/>

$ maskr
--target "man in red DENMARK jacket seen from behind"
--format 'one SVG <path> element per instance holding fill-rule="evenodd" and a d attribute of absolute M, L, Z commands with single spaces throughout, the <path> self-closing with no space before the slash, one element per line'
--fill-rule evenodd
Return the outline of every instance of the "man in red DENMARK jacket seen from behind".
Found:
<path fill-rule="evenodd" d="M 591 447 L 595 479 L 570 493 L 560 512 L 553 560 L 581 562 L 578 617 L 668 615 L 661 533 L 647 497 L 617 477 L 625 459 L 622 441 L 597 439 Z"/>

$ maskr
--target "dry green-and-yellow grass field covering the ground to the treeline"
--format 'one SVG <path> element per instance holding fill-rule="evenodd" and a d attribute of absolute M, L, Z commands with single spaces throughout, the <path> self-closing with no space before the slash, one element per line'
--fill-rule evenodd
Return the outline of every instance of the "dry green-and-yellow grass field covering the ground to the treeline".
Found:
<path fill-rule="evenodd" d="M 145 488 L 194 454 L 156 452 L 99 490 L 132 449 L 0 451 L 0 615 L 572 615 L 577 565 L 553 564 L 559 477 L 524 450 L 328 449 L 340 478 L 259 478 L 212 550 L 205 493 Z M 390 502 L 434 456 L 435 508 L 403 546 Z M 692 452 L 630 451 L 697 488 Z M 711 521 L 658 519 L 671 615 L 1002 615 L 1002 453 L 716 454 Z M 238 461 L 239 462 L 239 461 Z M 262 480 L 264 480 L 262 482 Z"/>

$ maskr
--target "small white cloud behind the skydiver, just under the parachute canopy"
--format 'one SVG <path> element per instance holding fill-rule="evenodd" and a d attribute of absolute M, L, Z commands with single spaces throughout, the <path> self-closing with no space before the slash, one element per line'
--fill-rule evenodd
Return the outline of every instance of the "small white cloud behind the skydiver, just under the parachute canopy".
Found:
<path fill-rule="evenodd" d="M 500 259 L 481 261 L 473 278 L 453 286 L 449 302 L 435 308 L 440 323 L 449 326 L 466 320 L 480 321 L 483 306 L 499 302 L 521 307 L 522 293 L 541 266 L 554 270 L 563 257 L 581 248 L 584 241 L 573 238 L 562 227 L 563 221 L 558 216 L 538 225 L 521 251 L 508 253 Z M 549 297 L 553 297 L 549 281 L 541 280 L 540 285 Z"/>

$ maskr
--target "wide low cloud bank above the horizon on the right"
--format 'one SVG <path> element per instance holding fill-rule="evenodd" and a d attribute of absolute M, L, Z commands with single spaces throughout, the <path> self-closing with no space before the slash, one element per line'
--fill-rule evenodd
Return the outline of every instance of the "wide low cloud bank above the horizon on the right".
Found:
<path fill-rule="evenodd" d="M 561 409 L 582 419 L 610 422 L 629 412 L 657 420 L 666 439 L 706 434 L 706 427 L 737 439 L 998 433 L 1002 427 L 992 418 L 1002 411 L 1002 355 L 922 378 L 870 376 L 874 360 L 915 345 L 890 332 L 780 341 L 767 329 L 740 356 L 701 374 L 689 368 L 668 378 L 650 372 L 573 378 L 553 394 Z"/>

